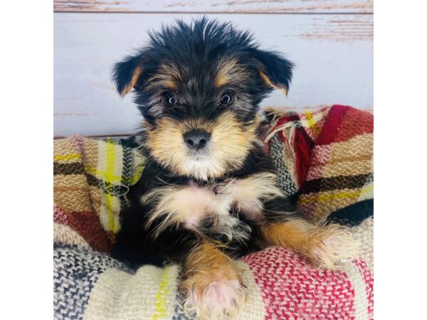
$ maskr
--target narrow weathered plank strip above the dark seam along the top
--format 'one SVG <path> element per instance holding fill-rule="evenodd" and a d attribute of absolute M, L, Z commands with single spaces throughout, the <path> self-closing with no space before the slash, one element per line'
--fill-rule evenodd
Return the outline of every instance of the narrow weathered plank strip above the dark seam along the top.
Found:
<path fill-rule="evenodd" d="M 56 12 L 372 13 L 373 0 L 54 0 Z"/>

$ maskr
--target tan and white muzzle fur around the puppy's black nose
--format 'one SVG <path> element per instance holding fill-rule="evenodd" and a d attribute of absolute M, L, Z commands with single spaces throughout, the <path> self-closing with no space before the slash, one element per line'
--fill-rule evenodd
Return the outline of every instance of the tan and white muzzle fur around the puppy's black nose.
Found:
<path fill-rule="evenodd" d="M 164 117 L 159 119 L 157 127 L 151 127 L 147 122 L 143 126 L 147 129 L 146 144 L 160 164 L 176 174 L 204 180 L 239 169 L 254 144 L 260 143 L 255 133 L 258 120 L 243 128 L 230 111 L 212 122 L 204 119 L 177 122 Z M 199 159 L 191 157 L 184 142 L 184 134 L 191 129 L 204 129 L 211 133 L 206 156 Z"/>

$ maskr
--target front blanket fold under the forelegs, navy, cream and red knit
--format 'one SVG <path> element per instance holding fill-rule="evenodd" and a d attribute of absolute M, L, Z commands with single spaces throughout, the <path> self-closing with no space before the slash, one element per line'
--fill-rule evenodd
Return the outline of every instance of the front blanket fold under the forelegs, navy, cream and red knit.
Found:
<path fill-rule="evenodd" d="M 248 289 L 240 319 L 372 319 L 372 220 L 353 228 L 363 255 L 342 271 L 317 269 L 281 247 L 237 261 Z M 177 265 L 135 272 L 75 245 L 57 244 L 54 252 L 55 319 L 189 319 L 177 292 Z"/>

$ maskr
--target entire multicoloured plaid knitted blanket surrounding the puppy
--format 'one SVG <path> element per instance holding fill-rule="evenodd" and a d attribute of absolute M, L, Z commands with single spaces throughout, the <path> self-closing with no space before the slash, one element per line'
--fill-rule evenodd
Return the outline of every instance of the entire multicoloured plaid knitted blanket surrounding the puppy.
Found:
<path fill-rule="evenodd" d="M 355 225 L 363 248 L 341 271 L 319 270 L 280 247 L 243 257 L 241 319 L 371 319 L 371 114 L 333 106 L 270 111 L 268 119 L 280 188 L 313 220 Z M 144 169 L 137 146 L 136 137 L 54 142 L 55 319 L 186 319 L 178 265 L 130 270 L 108 255 L 127 191 Z"/>

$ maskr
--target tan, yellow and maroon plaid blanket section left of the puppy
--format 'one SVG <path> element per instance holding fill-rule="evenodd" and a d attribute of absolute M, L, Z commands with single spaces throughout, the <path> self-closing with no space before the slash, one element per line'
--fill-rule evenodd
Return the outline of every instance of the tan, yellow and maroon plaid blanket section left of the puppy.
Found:
<path fill-rule="evenodd" d="M 120 209 L 129 186 L 144 169 L 135 138 L 73 136 L 55 141 L 55 223 L 70 225 L 95 250 L 107 252 L 120 230 Z"/>

